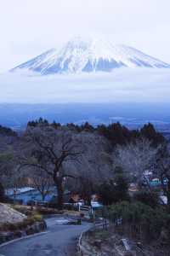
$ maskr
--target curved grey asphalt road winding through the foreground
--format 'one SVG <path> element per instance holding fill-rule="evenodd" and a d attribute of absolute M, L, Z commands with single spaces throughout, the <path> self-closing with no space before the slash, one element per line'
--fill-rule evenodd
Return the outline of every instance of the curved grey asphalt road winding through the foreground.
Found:
<path fill-rule="evenodd" d="M 48 230 L 45 233 L 0 247 L 0 256 L 75 256 L 77 238 L 90 224 L 63 225 L 58 219 L 46 220 Z"/>

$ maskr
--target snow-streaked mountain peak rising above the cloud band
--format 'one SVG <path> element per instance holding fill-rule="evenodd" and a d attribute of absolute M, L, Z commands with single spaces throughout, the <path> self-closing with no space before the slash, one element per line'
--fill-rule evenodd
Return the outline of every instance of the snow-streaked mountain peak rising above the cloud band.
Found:
<path fill-rule="evenodd" d="M 99 39 L 75 38 L 58 49 L 49 49 L 12 71 L 31 70 L 41 74 L 111 72 L 118 67 L 170 67 L 138 49 Z"/>

